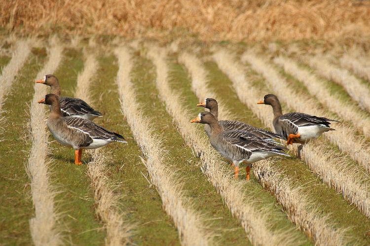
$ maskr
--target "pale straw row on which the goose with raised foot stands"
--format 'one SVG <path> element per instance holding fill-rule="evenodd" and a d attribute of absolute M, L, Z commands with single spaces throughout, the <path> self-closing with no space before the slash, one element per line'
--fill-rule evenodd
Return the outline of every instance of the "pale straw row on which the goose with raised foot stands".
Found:
<path fill-rule="evenodd" d="M 261 107 L 261 105 L 257 105 L 256 102 L 258 102 L 260 100 L 260 98 L 263 98 L 263 93 L 259 92 L 259 89 L 257 89 L 256 87 L 253 86 L 252 81 L 250 81 L 251 78 L 246 77 L 245 70 L 244 70 L 243 66 L 240 63 L 235 62 L 234 61 L 235 57 L 231 56 L 228 52 L 226 52 L 224 50 L 218 52 L 215 57 L 217 59 L 217 62 L 219 64 L 220 69 L 222 71 L 224 71 L 230 77 L 230 79 L 232 80 L 235 92 L 238 95 L 238 97 L 240 98 L 240 100 L 245 105 L 247 105 L 254 112 L 254 114 L 257 115 L 258 118 L 262 120 L 262 122 L 265 125 L 269 126 L 269 128 L 271 130 L 273 130 L 271 108 L 263 107 L 263 106 Z M 264 90 L 265 90 L 265 88 L 264 88 Z M 260 96 L 260 95 L 262 95 L 262 96 Z M 361 209 L 362 212 L 366 212 L 367 211 L 367 203 L 368 203 L 367 202 L 368 194 L 366 192 L 367 189 L 363 185 L 364 180 L 362 180 L 361 175 L 359 176 L 359 174 L 361 174 L 361 172 L 356 172 L 356 173 L 346 172 L 347 165 L 340 166 L 340 165 L 343 164 L 343 162 L 336 162 L 336 165 L 338 165 L 340 167 L 326 165 L 328 159 L 326 159 L 327 155 L 324 154 L 324 153 L 327 153 L 327 152 L 333 151 L 333 150 L 325 149 L 325 151 L 323 151 L 323 152 L 318 152 L 316 150 L 316 148 L 312 149 L 311 147 L 312 147 L 311 145 L 305 146 L 304 151 L 302 153 L 302 157 L 303 157 L 303 159 L 306 160 L 307 165 L 312 169 L 314 167 L 316 167 L 315 169 L 313 169 L 314 173 L 319 174 L 319 175 L 321 174 L 322 175 L 321 178 L 325 182 L 327 182 L 327 184 L 329 186 L 333 185 L 334 188 L 338 192 L 343 192 L 345 194 L 344 197 L 347 197 L 347 199 L 349 201 L 351 201 L 351 203 L 357 201 L 358 204 L 356 204 L 356 206 L 359 208 L 359 210 Z M 292 147 L 290 147 L 290 148 L 291 148 L 291 150 L 294 150 Z M 308 159 L 308 158 L 306 158 L 308 156 L 309 157 L 316 156 L 316 158 Z M 319 156 L 320 156 L 320 158 L 318 158 Z M 338 160 L 338 159 L 341 159 L 341 158 L 336 157 L 335 159 Z M 297 159 L 296 159 L 295 162 L 297 162 Z M 276 164 L 278 164 L 278 163 L 276 163 Z M 302 178 L 301 176 L 303 176 L 303 173 L 298 175 L 301 172 L 301 171 L 298 172 L 298 170 L 300 169 L 299 165 L 296 165 L 294 163 L 287 163 L 286 164 L 286 168 L 289 168 L 290 166 L 294 167 L 294 169 L 290 172 L 291 175 L 296 176 L 296 178 L 298 178 L 298 180 L 301 179 Z M 337 167 L 337 169 L 335 169 L 335 167 Z M 288 169 L 288 171 L 289 171 L 289 169 Z M 304 171 L 304 172 L 306 172 L 306 171 Z M 338 174 L 337 176 L 334 176 L 334 178 L 338 178 L 338 179 L 333 179 L 333 174 Z M 342 178 L 339 179 L 339 177 L 341 177 L 341 176 L 342 176 Z M 311 182 L 312 181 L 309 181 L 309 183 L 311 183 Z M 340 185 L 340 186 L 338 187 L 338 185 Z M 316 188 L 313 189 L 312 186 L 316 187 Z M 328 193 L 326 195 L 328 197 L 332 197 L 333 195 L 331 195 L 331 193 L 329 191 L 326 191 L 324 188 L 320 188 L 320 189 L 318 189 L 318 188 L 319 188 L 318 184 L 317 185 L 311 184 L 311 185 L 307 186 L 307 189 L 310 190 L 310 193 L 315 191 L 318 194 L 321 194 L 321 196 L 315 196 L 315 199 L 321 200 L 323 202 L 323 205 L 325 205 L 327 203 L 327 200 L 322 199 L 322 198 L 324 198 L 323 194 Z M 364 193 L 364 191 L 365 191 L 365 193 Z M 312 194 L 314 194 L 314 193 L 312 193 Z M 365 197 L 363 197 L 363 196 L 365 196 Z M 332 204 L 334 204 L 333 199 L 331 200 L 331 202 L 332 202 Z M 328 204 L 329 207 L 332 204 Z M 324 207 L 327 207 L 328 205 L 325 205 Z M 335 202 L 335 206 L 336 206 L 336 208 L 342 207 L 344 209 L 348 205 L 343 204 L 342 201 L 337 201 L 337 202 Z M 333 207 L 333 208 L 335 208 L 335 207 Z M 333 212 L 332 211 L 333 208 L 330 208 L 329 211 Z M 363 210 L 362 208 L 365 208 L 365 210 Z M 325 209 L 323 208 L 323 210 L 325 210 Z M 335 211 L 335 213 L 338 213 L 338 215 L 336 215 L 336 216 L 343 216 L 343 215 L 340 215 L 342 213 L 342 211 L 340 211 L 340 210 Z M 348 216 L 347 219 L 352 221 L 355 216 L 357 216 L 357 218 L 361 221 L 359 225 L 361 225 L 361 223 L 364 223 L 364 218 L 361 218 L 361 216 L 359 217 L 359 215 L 355 215 L 355 214 L 352 214 L 351 216 Z M 344 217 L 341 217 L 341 218 L 343 219 Z M 339 221 L 342 221 L 342 219 L 340 219 Z M 339 234 L 341 235 L 341 233 L 339 233 Z"/>

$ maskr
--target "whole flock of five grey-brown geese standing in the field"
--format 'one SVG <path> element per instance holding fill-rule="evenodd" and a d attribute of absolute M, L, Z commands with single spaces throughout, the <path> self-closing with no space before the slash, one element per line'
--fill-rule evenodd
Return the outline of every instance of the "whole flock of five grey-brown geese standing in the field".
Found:
<path fill-rule="evenodd" d="M 60 85 L 56 76 L 45 75 L 36 83 L 51 87 L 51 94 L 38 103 L 50 105 L 47 127 L 54 138 L 61 144 L 74 149 L 74 163 L 81 165 L 82 149 L 95 149 L 113 141 L 126 142 L 114 132 L 95 124 L 92 120 L 102 117 L 86 102 L 77 98 L 61 97 Z M 283 139 L 287 145 L 304 144 L 320 137 L 324 132 L 334 130 L 329 125 L 331 120 L 305 113 L 291 112 L 283 114 L 278 98 L 265 95 L 257 104 L 271 105 L 276 133 L 260 129 L 236 120 L 218 120 L 218 104 L 213 98 L 207 98 L 197 106 L 209 109 L 198 114 L 190 122 L 205 124 L 205 132 L 211 145 L 235 167 L 235 178 L 238 178 L 239 165 L 247 164 L 247 179 L 250 176 L 252 163 L 272 156 L 289 156 L 284 151 L 288 148 L 274 139 Z M 339 122 L 339 121 L 336 121 Z"/>

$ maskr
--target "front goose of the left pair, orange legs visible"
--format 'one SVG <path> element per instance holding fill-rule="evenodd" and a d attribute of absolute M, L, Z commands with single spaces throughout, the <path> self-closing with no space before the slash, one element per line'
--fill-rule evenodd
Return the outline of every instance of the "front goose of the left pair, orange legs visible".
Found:
<path fill-rule="evenodd" d="M 54 138 L 61 144 L 74 148 L 74 163 L 81 165 L 82 149 L 95 149 L 108 143 L 126 142 L 117 134 L 110 132 L 94 122 L 73 116 L 62 116 L 57 95 L 47 94 L 39 104 L 51 106 L 46 125 Z"/>

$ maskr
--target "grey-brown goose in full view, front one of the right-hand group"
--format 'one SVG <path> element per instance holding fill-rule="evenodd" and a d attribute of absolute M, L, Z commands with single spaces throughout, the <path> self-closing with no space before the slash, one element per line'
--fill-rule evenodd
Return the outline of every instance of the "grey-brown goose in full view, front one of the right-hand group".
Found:
<path fill-rule="evenodd" d="M 216 118 L 210 112 L 200 112 L 190 123 L 208 124 L 211 129 L 210 143 L 223 157 L 232 161 L 235 166 L 235 179 L 238 178 L 239 164 L 247 164 L 247 180 L 249 180 L 252 163 L 272 156 L 289 156 L 282 152 L 288 149 L 277 142 L 266 141 L 253 133 L 241 130 L 222 131 Z"/>

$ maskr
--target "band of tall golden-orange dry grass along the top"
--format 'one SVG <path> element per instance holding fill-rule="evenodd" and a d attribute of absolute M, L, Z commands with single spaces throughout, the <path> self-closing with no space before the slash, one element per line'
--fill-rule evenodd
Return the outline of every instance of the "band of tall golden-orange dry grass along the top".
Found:
<path fill-rule="evenodd" d="M 43 35 L 166 37 L 185 31 L 203 40 L 320 38 L 368 45 L 369 6 L 358 0 L 8 0 L 0 2 L 0 26 Z"/>

